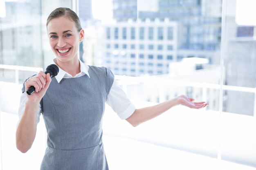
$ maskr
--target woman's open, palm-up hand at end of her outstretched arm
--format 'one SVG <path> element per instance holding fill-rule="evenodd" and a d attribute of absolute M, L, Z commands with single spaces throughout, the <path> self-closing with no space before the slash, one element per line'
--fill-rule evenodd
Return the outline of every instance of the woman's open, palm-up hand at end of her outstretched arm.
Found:
<path fill-rule="evenodd" d="M 193 102 L 195 99 L 188 98 L 185 95 L 181 95 L 178 97 L 179 104 L 183 106 L 187 106 L 189 108 L 204 108 L 205 106 L 208 106 L 209 104 L 206 102 Z"/>

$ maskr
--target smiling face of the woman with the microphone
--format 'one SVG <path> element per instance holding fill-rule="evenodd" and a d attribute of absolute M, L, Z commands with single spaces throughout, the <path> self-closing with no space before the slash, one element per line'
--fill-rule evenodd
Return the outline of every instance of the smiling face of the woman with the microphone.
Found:
<path fill-rule="evenodd" d="M 77 31 L 75 22 L 64 16 L 52 19 L 47 26 L 49 43 L 56 55 L 57 62 L 77 60 L 80 42 L 84 31 Z"/>

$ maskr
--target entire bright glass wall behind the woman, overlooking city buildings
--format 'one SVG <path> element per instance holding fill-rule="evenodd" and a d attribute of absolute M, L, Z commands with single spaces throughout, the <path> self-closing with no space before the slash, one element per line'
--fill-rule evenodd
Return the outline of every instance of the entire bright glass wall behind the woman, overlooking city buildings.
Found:
<path fill-rule="evenodd" d="M 38 72 L 31 67 L 45 68 L 55 57 L 45 26 L 49 13 L 76 3 L 85 30 L 80 60 L 110 68 L 136 108 L 182 94 L 209 103 L 201 110 L 175 106 L 137 128 L 106 105 L 103 140 L 110 169 L 124 169 L 127 160 L 127 169 L 255 169 L 256 4 L 223 1 L 225 7 L 222 0 L 0 0 L 2 169 L 40 167 L 43 119 L 29 152 L 15 146 L 17 94 L 25 78 Z"/>

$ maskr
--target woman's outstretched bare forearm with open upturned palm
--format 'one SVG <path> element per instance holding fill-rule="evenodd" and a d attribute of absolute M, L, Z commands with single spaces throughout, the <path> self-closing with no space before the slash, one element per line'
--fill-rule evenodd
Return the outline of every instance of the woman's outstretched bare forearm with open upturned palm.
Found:
<path fill-rule="evenodd" d="M 136 109 L 134 113 L 132 113 L 132 115 L 126 119 L 126 121 L 128 121 L 132 126 L 138 126 L 144 121 L 153 119 L 154 117 L 157 117 L 158 115 L 161 115 L 165 111 L 169 110 L 173 106 L 177 106 L 179 104 L 182 104 L 189 108 L 197 108 L 197 109 L 203 108 L 208 105 L 205 102 L 193 102 L 193 101 L 194 99 L 187 98 L 186 96 L 181 95 L 179 97 L 175 97 L 174 99 L 157 104 L 155 106 Z"/>

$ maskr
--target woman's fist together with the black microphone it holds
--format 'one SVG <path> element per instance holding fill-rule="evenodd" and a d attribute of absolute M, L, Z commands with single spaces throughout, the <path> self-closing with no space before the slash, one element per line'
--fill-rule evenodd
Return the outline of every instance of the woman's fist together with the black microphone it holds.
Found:
<path fill-rule="evenodd" d="M 31 82 L 30 84 L 34 84 L 34 86 L 36 86 L 38 89 L 44 88 L 45 84 L 47 84 L 46 83 L 47 77 L 45 75 L 47 75 L 47 73 L 49 73 L 50 77 L 55 77 L 58 74 L 58 71 L 59 71 L 58 66 L 55 64 L 51 64 L 51 65 L 47 66 L 44 73 L 42 71 L 41 71 L 41 73 L 39 72 L 38 75 L 36 75 L 36 77 L 35 77 L 36 80 L 30 81 Z M 29 79 L 33 79 L 33 78 L 34 77 L 31 77 Z M 49 82 L 49 79 L 48 79 L 48 82 Z M 47 85 L 49 86 L 49 83 Z M 29 84 L 28 84 L 28 86 L 29 86 Z M 28 95 L 31 95 L 36 91 L 36 88 L 34 86 L 33 85 L 30 86 L 29 89 L 26 91 Z"/>

